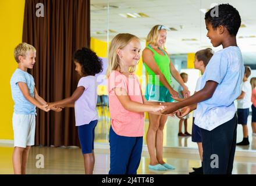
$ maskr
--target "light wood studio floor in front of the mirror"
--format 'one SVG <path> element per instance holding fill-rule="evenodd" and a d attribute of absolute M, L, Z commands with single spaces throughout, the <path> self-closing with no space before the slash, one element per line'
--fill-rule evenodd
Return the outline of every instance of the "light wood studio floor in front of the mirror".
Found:
<path fill-rule="evenodd" d="M 0 174 L 13 174 L 12 170 L 13 147 L 0 147 Z M 44 156 L 44 169 L 36 167 L 37 155 Z M 148 169 L 150 158 L 148 152 L 143 152 L 138 174 L 188 174 L 191 167 L 200 166 L 197 154 L 189 153 L 165 153 L 165 161 L 176 167 L 175 170 L 151 171 Z M 94 174 L 108 174 L 109 151 L 108 149 L 95 149 Z M 31 148 L 27 164 L 27 174 L 84 174 L 83 156 L 77 147 L 54 148 L 33 147 Z M 233 174 L 256 174 L 256 158 L 236 157 Z"/>

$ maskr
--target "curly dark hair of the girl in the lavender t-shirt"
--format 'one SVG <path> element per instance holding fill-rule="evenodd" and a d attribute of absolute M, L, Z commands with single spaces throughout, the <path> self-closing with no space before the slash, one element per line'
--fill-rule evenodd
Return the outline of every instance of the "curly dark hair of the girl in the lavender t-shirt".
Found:
<path fill-rule="evenodd" d="M 95 76 L 102 71 L 102 59 L 89 48 L 82 48 L 74 52 L 73 60 L 81 65 L 82 73 Z"/>

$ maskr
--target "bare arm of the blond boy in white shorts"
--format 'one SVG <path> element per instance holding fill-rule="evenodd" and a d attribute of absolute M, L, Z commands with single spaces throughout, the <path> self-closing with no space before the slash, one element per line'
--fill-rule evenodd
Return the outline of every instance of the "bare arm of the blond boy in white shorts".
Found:
<path fill-rule="evenodd" d="M 27 88 L 27 84 L 23 83 L 23 82 L 18 82 L 17 83 L 20 91 L 22 91 L 23 96 L 27 99 L 27 101 L 29 101 L 30 103 L 32 103 L 33 105 L 35 105 L 37 108 L 40 108 L 41 110 L 44 110 L 45 112 L 48 112 L 50 109 L 47 108 L 47 103 L 41 103 L 39 101 L 37 101 L 37 99 L 33 98 L 30 94 L 29 94 L 29 88 Z"/>

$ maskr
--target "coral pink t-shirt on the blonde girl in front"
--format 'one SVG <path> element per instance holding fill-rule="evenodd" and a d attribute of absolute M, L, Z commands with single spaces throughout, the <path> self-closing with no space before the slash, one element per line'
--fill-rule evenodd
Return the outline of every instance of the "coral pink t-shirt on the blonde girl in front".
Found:
<path fill-rule="evenodd" d="M 108 77 L 108 98 L 113 131 L 126 137 L 142 137 L 144 134 L 144 112 L 130 112 L 123 108 L 115 94 L 115 88 L 126 90 L 131 101 L 143 103 L 138 78 L 134 74 L 128 78 L 119 71 L 113 70 Z"/>

